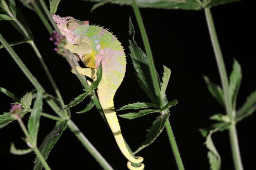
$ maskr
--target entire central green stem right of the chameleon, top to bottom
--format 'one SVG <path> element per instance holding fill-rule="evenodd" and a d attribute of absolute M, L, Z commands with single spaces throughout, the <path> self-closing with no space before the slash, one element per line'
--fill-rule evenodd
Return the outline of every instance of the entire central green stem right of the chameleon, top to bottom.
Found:
<path fill-rule="evenodd" d="M 153 85 L 154 85 L 154 89 L 155 89 L 155 94 L 156 94 L 156 98 L 157 98 L 157 102 L 158 102 L 158 107 L 160 107 L 162 109 L 164 107 L 164 102 L 163 102 L 163 97 L 164 96 L 161 96 L 161 93 L 160 93 L 159 82 L 158 82 L 158 79 L 157 79 L 157 72 L 155 70 L 155 65 L 154 65 L 154 60 L 153 60 L 151 48 L 150 48 L 150 45 L 149 45 L 149 42 L 148 42 L 148 38 L 147 38 L 147 35 L 146 35 L 146 29 L 145 29 L 145 26 L 143 24 L 143 20 L 142 20 L 142 17 L 140 15 L 139 8 L 137 6 L 136 0 L 132 0 L 132 7 L 133 7 L 133 10 L 134 10 L 136 19 L 137 19 L 137 23 L 138 23 L 138 26 L 139 26 L 139 29 L 140 29 L 140 33 L 141 33 L 143 42 L 144 42 L 146 55 L 148 57 L 149 68 L 150 68 L 150 73 L 151 73 L 151 76 L 152 76 L 152 81 L 153 81 Z M 175 142 L 174 133 L 172 131 L 169 120 L 166 121 L 165 128 L 166 128 L 167 134 L 169 136 L 169 140 L 170 140 L 173 152 L 174 152 L 174 157 L 175 157 L 178 169 L 179 170 L 184 170 L 181 155 L 179 153 L 178 146 Z"/>

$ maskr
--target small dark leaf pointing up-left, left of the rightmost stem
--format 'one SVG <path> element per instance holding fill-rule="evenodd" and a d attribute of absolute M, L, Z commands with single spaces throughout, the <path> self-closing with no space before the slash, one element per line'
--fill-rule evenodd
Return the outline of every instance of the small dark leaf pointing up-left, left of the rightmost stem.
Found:
<path fill-rule="evenodd" d="M 220 105 L 224 106 L 223 91 L 219 85 L 214 84 L 210 81 L 207 76 L 203 76 L 205 83 L 207 84 L 208 90 L 211 95 L 219 102 Z"/>

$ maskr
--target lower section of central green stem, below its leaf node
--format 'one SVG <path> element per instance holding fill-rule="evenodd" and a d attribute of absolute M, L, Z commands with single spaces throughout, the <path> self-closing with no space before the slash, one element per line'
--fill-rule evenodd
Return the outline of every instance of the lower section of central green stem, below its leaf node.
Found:
<path fill-rule="evenodd" d="M 175 138 L 174 138 L 174 132 L 172 130 L 172 127 L 170 125 L 169 120 L 167 120 L 165 122 L 165 128 L 166 128 L 166 131 L 167 131 L 170 143 L 171 143 L 171 147 L 172 147 L 172 150 L 173 150 L 173 153 L 174 153 L 174 158 L 175 158 L 177 166 L 178 166 L 178 170 L 184 170 L 181 155 L 179 153 L 179 149 L 178 149 L 178 146 L 177 146 Z"/>

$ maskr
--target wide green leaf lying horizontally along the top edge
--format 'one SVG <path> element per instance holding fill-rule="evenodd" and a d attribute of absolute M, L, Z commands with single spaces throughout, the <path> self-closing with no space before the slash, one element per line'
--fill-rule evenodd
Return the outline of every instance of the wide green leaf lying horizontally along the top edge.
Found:
<path fill-rule="evenodd" d="M 88 1 L 88 0 L 86 0 Z M 101 2 L 104 0 L 90 0 L 92 2 Z M 109 0 L 110 3 L 119 5 L 131 5 L 131 0 Z M 199 10 L 202 4 L 198 0 L 136 0 L 140 8 L 162 8 L 162 9 L 191 9 Z"/>

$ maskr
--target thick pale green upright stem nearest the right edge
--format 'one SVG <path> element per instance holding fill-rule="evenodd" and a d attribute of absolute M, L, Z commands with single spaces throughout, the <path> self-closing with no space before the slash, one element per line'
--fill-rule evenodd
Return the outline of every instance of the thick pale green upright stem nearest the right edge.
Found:
<path fill-rule="evenodd" d="M 219 68 L 220 80 L 221 80 L 221 84 L 224 92 L 225 108 L 226 108 L 227 115 L 229 115 L 229 118 L 231 119 L 231 125 L 229 128 L 229 138 L 230 138 L 230 144 L 231 144 L 231 149 L 233 154 L 233 161 L 234 161 L 236 170 L 243 170 L 243 165 L 242 165 L 240 151 L 239 151 L 237 130 L 235 125 L 235 111 L 232 111 L 232 100 L 229 93 L 228 76 L 227 76 L 226 68 L 224 65 L 222 53 L 220 50 L 219 41 L 218 41 L 218 37 L 214 27 L 213 19 L 210 13 L 210 8 L 205 8 L 204 11 L 205 11 L 207 25 L 210 33 L 210 39 L 212 42 L 215 58 Z"/>

